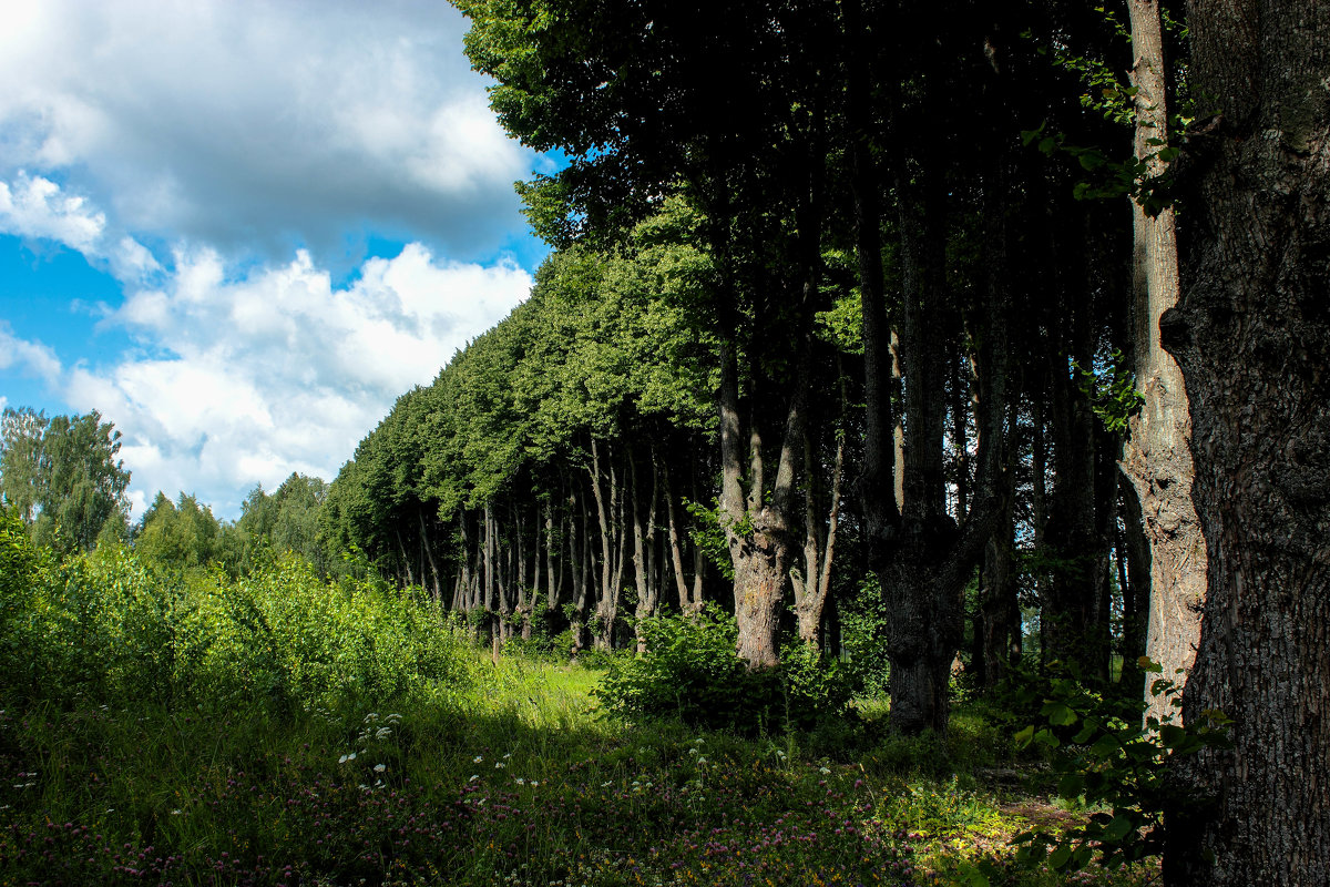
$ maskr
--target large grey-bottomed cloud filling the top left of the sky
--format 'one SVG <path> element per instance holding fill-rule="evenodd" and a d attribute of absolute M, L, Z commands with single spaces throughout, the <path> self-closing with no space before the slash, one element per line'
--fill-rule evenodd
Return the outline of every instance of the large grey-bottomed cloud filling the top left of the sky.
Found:
<path fill-rule="evenodd" d="M 540 161 L 488 112 L 446 3 L 47 0 L 5 25 L 0 176 L 65 170 L 141 241 L 271 258 L 371 230 L 467 257 L 520 225 L 511 184 Z"/>

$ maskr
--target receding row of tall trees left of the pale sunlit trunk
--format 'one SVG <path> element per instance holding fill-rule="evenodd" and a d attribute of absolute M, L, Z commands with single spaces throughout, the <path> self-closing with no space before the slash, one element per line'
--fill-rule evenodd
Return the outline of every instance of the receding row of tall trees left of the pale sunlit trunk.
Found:
<path fill-rule="evenodd" d="M 904 730 L 946 727 L 967 630 L 1000 680 L 1021 590 L 1052 657 L 1107 677 L 1116 620 L 1134 662 L 1130 214 L 1121 188 L 1073 195 L 1112 191 L 1101 153 L 1057 149 L 1125 153 L 1127 93 L 1077 98 L 1128 55 L 1113 20 L 726 4 L 701 33 L 686 4 L 460 5 L 505 125 L 571 157 L 521 186 L 557 251 L 362 444 L 330 536 L 500 633 L 568 602 L 609 644 L 625 586 L 649 612 L 724 582 L 755 666 L 868 576 Z"/>

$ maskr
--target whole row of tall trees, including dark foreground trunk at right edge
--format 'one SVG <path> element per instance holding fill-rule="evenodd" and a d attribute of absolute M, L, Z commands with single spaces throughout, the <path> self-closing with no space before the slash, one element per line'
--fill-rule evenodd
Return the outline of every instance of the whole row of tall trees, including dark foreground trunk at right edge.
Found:
<path fill-rule="evenodd" d="M 1322 883 L 1330 5 L 456 5 L 569 158 L 520 188 L 559 251 L 327 527 L 519 625 L 567 588 L 602 644 L 724 577 L 753 666 L 867 577 L 903 730 L 946 726 L 976 577 L 971 666 L 1027 641 L 1024 572 L 1048 658 L 1103 674 L 1117 606 L 1234 718 L 1169 879 Z"/>

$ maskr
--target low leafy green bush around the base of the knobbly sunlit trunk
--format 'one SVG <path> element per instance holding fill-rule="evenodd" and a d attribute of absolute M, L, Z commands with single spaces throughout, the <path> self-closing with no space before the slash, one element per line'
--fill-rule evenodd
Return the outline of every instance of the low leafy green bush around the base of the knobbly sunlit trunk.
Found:
<path fill-rule="evenodd" d="M 749 669 L 734 652 L 734 618 L 714 604 L 696 614 L 641 620 L 637 632 L 646 653 L 614 661 L 597 692 L 616 717 L 677 717 L 757 734 L 809 729 L 849 707 L 843 666 L 805 645 L 787 644 L 775 668 Z"/>

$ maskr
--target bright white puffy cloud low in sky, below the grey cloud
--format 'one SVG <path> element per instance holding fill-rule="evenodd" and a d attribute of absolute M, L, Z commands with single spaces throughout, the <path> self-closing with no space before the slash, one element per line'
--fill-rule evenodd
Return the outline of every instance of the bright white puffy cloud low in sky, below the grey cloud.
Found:
<path fill-rule="evenodd" d="M 303 251 L 242 274 L 214 250 L 181 251 L 166 286 L 134 293 L 104 320 L 152 356 L 74 367 L 65 398 L 125 435 L 136 513 L 164 489 L 235 516 L 254 483 L 335 476 L 403 391 L 428 383 L 529 289 L 512 263 L 442 261 L 418 243 L 370 259 L 343 287 Z"/>

